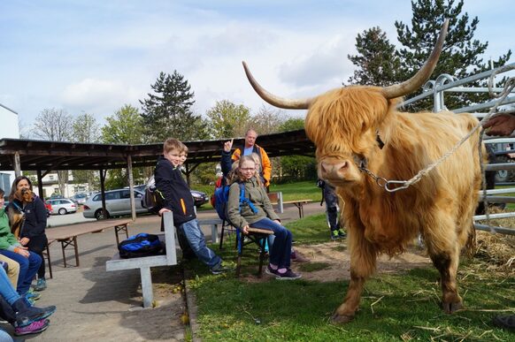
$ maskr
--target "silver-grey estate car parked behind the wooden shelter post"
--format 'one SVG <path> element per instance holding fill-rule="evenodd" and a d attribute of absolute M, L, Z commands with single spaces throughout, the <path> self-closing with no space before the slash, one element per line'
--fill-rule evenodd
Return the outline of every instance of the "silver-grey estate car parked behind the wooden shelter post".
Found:
<path fill-rule="evenodd" d="M 147 209 L 142 208 L 140 199 L 142 193 L 135 190 L 135 209 L 136 213 L 146 213 Z M 102 212 L 102 193 L 94 194 L 84 203 L 82 215 L 86 218 L 96 218 L 97 220 L 109 217 L 116 217 L 131 214 L 131 203 L 129 189 L 117 189 L 105 192 L 105 209 L 107 217 Z"/>

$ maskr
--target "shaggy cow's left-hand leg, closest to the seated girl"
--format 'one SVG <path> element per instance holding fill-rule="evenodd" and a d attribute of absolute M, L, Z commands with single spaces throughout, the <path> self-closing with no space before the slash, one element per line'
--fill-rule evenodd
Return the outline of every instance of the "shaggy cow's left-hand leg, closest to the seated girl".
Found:
<path fill-rule="evenodd" d="M 348 323 L 354 318 L 354 314 L 361 300 L 361 293 L 366 278 L 375 270 L 376 252 L 372 244 L 364 237 L 363 229 L 349 227 L 350 247 L 350 284 L 347 295 L 342 305 L 334 312 L 333 323 Z"/>

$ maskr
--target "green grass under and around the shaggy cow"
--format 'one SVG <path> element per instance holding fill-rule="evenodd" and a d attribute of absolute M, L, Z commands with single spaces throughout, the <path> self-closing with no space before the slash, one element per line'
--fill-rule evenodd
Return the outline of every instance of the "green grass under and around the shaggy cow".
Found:
<path fill-rule="evenodd" d="M 297 243 L 327 241 L 325 217 L 306 217 L 288 224 Z M 221 251 L 235 260 L 233 238 Z M 218 253 L 218 247 L 213 246 Z M 297 280 L 256 282 L 258 253 L 247 247 L 242 277 L 212 276 L 192 262 L 189 281 L 198 305 L 196 331 L 204 341 L 408 341 L 513 340 L 511 332 L 491 324 L 496 314 L 515 313 L 515 276 L 473 267 L 464 262 L 458 285 L 467 309 L 446 315 L 439 308 L 439 274 L 434 268 L 382 274 L 365 283 L 356 319 L 345 325 L 330 323 L 343 300 L 348 282 Z M 322 262 L 303 265 L 303 272 L 322 270 Z M 264 276 L 265 277 L 265 276 Z M 504 310 L 504 311 L 503 311 Z"/>

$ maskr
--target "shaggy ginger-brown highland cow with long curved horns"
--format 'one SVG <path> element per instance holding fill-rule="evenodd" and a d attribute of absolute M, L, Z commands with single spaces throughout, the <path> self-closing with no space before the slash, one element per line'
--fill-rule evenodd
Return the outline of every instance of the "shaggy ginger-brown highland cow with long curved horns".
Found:
<path fill-rule="evenodd" d="M 281 108 L 309 109 L 305 130 L 317 148 L 319 178 L 336 186 L 345 203 L 350 285 L 334 313 L 335 323 L 354 317 L 377 256 L 403 252 L 419 232 L 441 274 L 442 308 L 447 313 L 462 308 L 456 274 L 461 249 L 472 247 L 474 241 L 473 212 L 481 179 L 479 133 L 408 188 L 388 192 L 381 187 L 384 181 L 378 184 L 370 174 L 411 179 L 478 124 L 470 114 L 396 110 L 396 98 L 420 87 L 433 72 L 447 25 L 426 65 L 411 80 L 390 87 L 342 87 L 311 99 L 290 100 L 265 91 L 243 64 L 265 101 Z"/>

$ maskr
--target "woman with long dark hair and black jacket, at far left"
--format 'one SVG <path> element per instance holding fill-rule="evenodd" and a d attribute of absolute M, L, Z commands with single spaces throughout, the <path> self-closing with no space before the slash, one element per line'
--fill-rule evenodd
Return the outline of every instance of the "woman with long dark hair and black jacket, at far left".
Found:
<path fill-rule="evenodd" d="M 19 243 L 41 257 L 42 262 L 37 270 L 37 284 L 34 289 L 35 291 L 43 291 L 47 288 L 45 259 L 42 255 L 48 243 L 47 235 L 45 234 L 47 209 L 42 199 L 38 196 L 34 195 L 33 201 L 24 201 L 21 196 L 23 189 L 30 189 L 32 192 L 32 182 L 26 176 L 18 176 L 12 182 L 9 201 L 25 213 L 25 222 L 19 232 Z"/>

